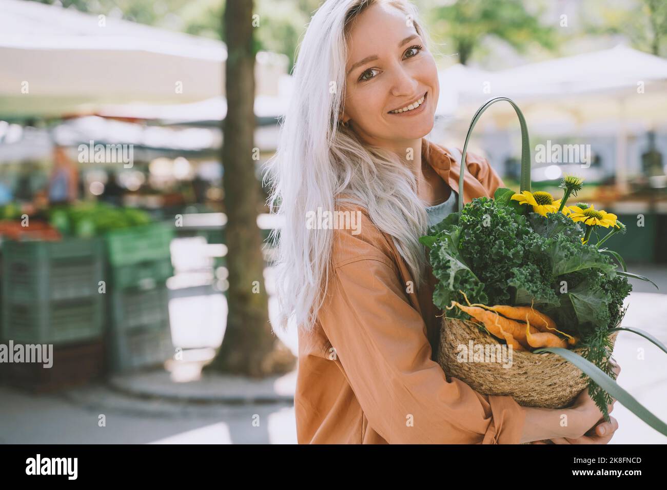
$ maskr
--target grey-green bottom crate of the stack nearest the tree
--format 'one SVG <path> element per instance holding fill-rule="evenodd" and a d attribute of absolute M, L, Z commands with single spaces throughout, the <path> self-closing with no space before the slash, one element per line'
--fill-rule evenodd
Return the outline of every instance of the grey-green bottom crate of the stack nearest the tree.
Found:
<path fill-rule="evenodd" d="M 158 367 L 173 357 L 169 324 L 159 329 L 136 328 L 117 331 L 108 342 L 109 369 L 125 373 L 148 367 Z"/>

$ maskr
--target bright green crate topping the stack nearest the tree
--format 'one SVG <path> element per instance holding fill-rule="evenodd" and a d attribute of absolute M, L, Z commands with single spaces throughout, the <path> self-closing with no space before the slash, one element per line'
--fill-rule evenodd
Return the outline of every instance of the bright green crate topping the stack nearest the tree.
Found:
<path fill-rule="evenodd" d="M 171 223 L 152 223 L 109 231 L 105 235 L 109 264 L 118 267 L 171 257 L 169 244 L 174 237 Z"/>

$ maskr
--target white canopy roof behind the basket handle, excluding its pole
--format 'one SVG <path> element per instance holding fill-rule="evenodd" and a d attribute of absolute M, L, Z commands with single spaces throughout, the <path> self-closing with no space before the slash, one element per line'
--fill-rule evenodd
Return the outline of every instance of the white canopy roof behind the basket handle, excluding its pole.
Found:
<path fill-rule="evenodd" d="M 535 111 L 551 117 L 569 113 L 578 122 L 608 121 L 620 115 L 622 101 L 626 118 L 667 119 L 667 60 L 624 45 L 497 72 L 454 65 L 440 73 L 441 85 L 450 77 L 458 87 L 459 112 L 504 96 L 521 103 L 527 118 Z M 492 111 L 513 113 L 509 105 Z"/>

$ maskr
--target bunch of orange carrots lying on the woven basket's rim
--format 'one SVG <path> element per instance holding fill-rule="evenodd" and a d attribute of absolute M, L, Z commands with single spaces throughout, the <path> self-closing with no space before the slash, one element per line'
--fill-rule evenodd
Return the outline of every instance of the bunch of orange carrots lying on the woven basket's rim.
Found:
<path fill-rule="evenodd" d="M 461 291 L 463 293 L 463 291 Z M 540 313 L 532 306 L 487 306 L 480 303 L 470 304 L 468 297 L 463 293 L 468 305 L 452 301 L 447 309 L 458 307 L 481 322 L 486 330 L 504 339 L 507 345 L 512 345 L 515 351 L 530 351 L 536 347 L 562 347 L 576 345 L 578 339 L 556 329 L 556 323 L 544 313 Z M 524 323 L 525 322 L 525 323 Z M 564 339 L 553 332 L 564 335 Z"/>

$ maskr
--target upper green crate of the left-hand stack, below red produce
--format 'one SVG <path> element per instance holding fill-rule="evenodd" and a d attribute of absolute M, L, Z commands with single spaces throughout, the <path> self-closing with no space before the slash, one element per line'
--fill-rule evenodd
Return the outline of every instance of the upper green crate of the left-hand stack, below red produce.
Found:
<path fill-rule="evenodd" d="M 3 301 L 60 301 L 97 295 L 104 279 L 99 239 L 6 241 Z"/>

